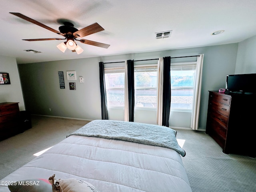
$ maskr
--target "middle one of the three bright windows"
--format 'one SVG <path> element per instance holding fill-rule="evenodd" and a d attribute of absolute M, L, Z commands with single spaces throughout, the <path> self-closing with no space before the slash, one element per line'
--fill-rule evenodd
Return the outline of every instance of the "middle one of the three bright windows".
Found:
<path fill-rule="evenodd" d="M 156 108 L 157 65 L 134 66 L 135 107 Z"/>

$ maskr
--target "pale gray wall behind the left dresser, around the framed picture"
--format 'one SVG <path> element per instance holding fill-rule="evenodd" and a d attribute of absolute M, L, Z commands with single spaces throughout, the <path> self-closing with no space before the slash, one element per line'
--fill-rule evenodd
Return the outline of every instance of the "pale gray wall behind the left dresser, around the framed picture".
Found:
<path fill-rule="evenodd" d="M 25 110 L 16 59 L 0 56 L 0 72 L 9 73 L 11 82 L 11 84 L 0 85 L 0 103 L 19 102 L 20 110 Z"/>

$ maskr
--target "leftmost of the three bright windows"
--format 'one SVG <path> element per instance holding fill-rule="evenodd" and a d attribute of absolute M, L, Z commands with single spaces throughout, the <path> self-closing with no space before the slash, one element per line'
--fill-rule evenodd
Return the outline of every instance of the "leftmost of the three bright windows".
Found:
<path fill-rule="evenodd" d="M 109 107 L 124 107 L 124 67 L 104 68 Z"/>

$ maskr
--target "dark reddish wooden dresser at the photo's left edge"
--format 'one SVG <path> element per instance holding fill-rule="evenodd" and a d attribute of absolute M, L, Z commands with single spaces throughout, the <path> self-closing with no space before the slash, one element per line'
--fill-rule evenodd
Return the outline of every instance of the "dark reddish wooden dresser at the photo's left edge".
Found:
<path fill-rule="evenodd" d="M 0 140 L 6 139 L 20 130 L 20 110 L 18 103 L 0 103 Z"/>

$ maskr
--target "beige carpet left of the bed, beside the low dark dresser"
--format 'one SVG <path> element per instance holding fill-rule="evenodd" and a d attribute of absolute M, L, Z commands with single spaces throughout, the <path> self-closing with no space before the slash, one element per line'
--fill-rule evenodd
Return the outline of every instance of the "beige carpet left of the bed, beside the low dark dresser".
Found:
<path fill-rule="evenodd" d="M 36 156 L 33 154 L 54 146 L 88 121 L 32 116 L 32 128 L 0 141 L 0 179 Z"/>

